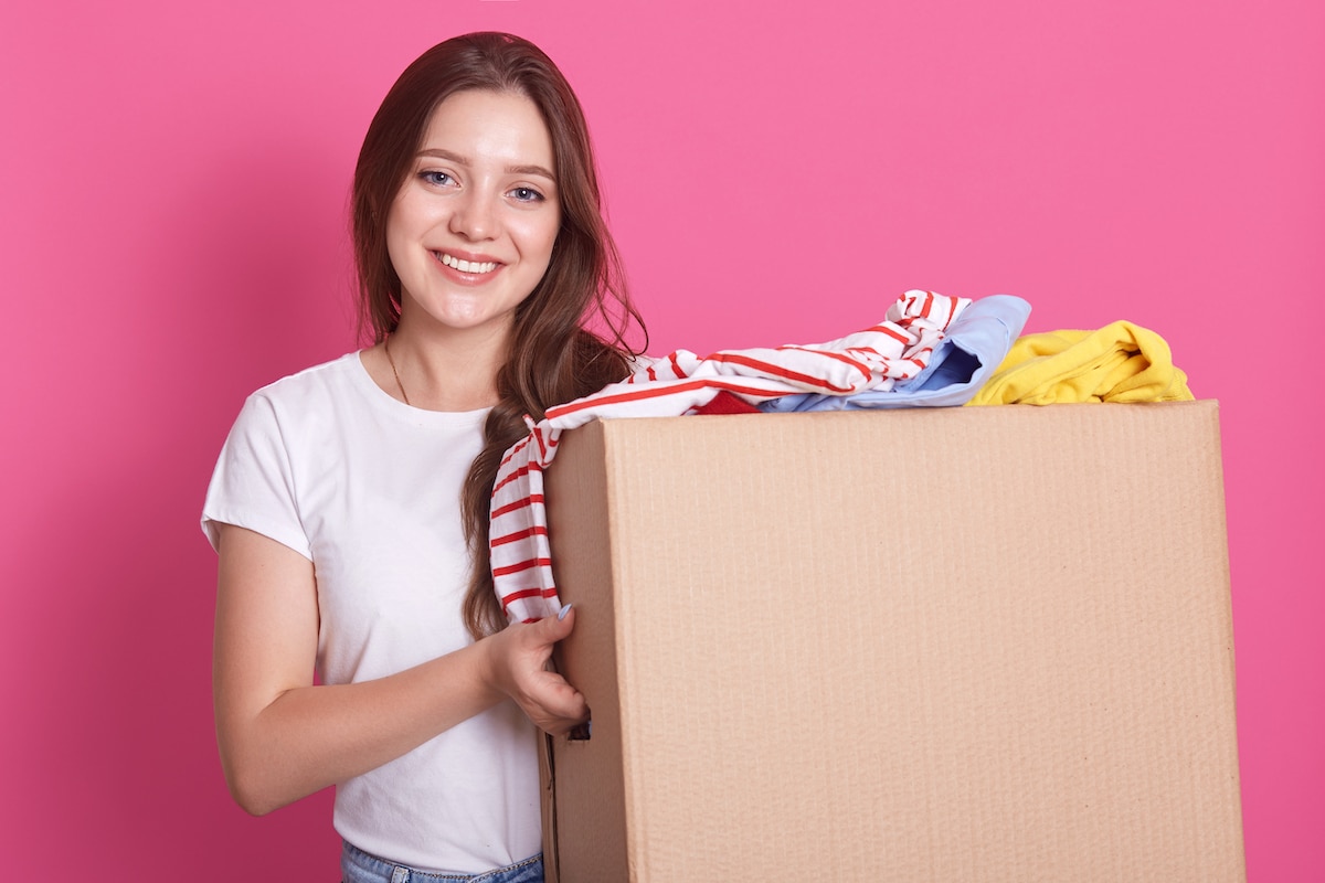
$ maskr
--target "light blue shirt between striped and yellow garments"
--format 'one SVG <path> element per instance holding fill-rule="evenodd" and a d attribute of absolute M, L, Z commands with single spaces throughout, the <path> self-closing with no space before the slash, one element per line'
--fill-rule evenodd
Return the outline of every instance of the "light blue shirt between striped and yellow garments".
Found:
<path fill-rule="evenodd" d="M 888 391 L 852 396 L 804 393 L 759 405 L 765 412 L 853 410 L 857 408 L 947 408 L 975 397 L 1022 334 L 1031 304 L 1011 294 L 971 302 L 947 328 L 929 365 Z"/>

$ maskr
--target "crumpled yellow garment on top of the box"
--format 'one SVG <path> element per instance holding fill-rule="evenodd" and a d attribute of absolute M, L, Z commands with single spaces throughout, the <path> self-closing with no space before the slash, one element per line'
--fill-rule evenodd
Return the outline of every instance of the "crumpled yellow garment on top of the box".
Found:
<path fill-rule="evenodd" d="M 1114 322 L 1098 331 L 1018 338 L 970 405 L 1190 401 L 1187 375 L 1154 331 Z"/>

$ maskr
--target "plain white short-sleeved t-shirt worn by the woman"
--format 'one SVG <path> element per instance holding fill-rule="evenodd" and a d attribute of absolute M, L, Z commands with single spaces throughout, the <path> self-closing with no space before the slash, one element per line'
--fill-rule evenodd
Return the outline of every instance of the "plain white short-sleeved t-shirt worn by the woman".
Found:
<path fill-rule="evenodd" d="M 216 522 L 313 561 L 323 683 L 370 680 L 470 642 L 460 488 L 485 410 L 439 413 L 383 392 L 358 353 L 244 404 L 207 491 Z M 335 829 L 423 870 L 474 874 L 541 849 L 535 731 L 510 700 L 337 788 Z"/>

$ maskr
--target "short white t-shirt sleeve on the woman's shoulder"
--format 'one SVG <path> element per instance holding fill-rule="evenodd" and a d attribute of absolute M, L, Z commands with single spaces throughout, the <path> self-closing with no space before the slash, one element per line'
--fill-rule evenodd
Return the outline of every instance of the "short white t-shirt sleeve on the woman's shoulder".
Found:
<path fill-rule="evenodd" d="M 249 396 L 221 449 L 203 504 L 203 532 L 217 547 L 217 523 L 244 527 L 313 557 L 299 519 L 294 469 L 281 421 L 261 392 Z"/>

